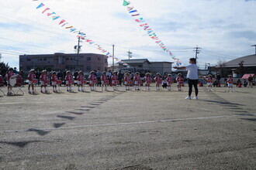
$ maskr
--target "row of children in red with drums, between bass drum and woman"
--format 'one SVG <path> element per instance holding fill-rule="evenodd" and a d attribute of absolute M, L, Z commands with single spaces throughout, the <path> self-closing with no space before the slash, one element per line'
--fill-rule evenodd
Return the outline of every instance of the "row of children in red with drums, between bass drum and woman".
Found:
<path fill-rule="evenodd" d="M 29 76 L 28 76 L 28 80 L 29 80 L 29 93 L 35 93 L 34 91 L 34 85 L 36 84 L 37 80 L 36 80 L 36 75 L 35 75 L 35 70 L 30 70 L 29 71 Z M 57 79 L 57 75 L 56 72 L 53 72 L 51 74 L 50 77 L 51 80 L 51 84 L 53 87 L 53 91 L 54 93 L 57 92 L 57 84 L 61 83 L 61 80 Z M 67 91 L 68 92 L 72 92 L 72 84 L 74 83 L 74 79 L 73 76 L 71 75 L 71 71 L 67 71 L 66 76 L 65 76 L 65 84 L 67 87 Z M 97 77 L 95 76 L 95 72 L 92 71 L 90 73 L 90 75 L 88 76 L 88 80 L 89 80 L 89 87 L 91 91 L 95 91 L 95 84 L 98 83 Z M 106 72 L 102 73 L 101 76 L 101 83 L 102 83 L 102 91 L 106 90 L 107 91 L 107 87 L 109 86 L 109 84 L 112 85 L 113 90 L 118 90 L 117 89 L 117 85 L 119 84 L 119 79 L 117 76 L 117 73 L 114 72 L 112 73 L 112 76 L 110 78 L 110 82 L 109 82 L 109 77 L 106 75 Z M 77 84 L 78 84 L 78 91 L 84 91 L 84 85 L 86 83 L 85 81 L 85 77 L 83 72 L 79 72 L 78 76 L 77 76 Z M 162 84 L 162 82 L 166 82 L 167 83 L 167 87 L 168 90 L 171 90 L 171 83 L 173 83 L 171 74 L 168 74 L 168 77 L 165 80 L 162 80 L 161 78 L 161 74 L 157 73 L 157 76 L 154 77 L 154 81 L 156 83 L 156 90 L 160 90 L 160 85 Z M 178 90 L 182 90 L 182 85 L 183 85 L 183 78 L 182 78 L 182 74 L 178 74 L 178 77 L 176 78 L 177 81 L 177 87 Z M 40 76 L 40 86 L 41 86 L 41 93 L 48 93 L 49 91 L 47 90 L 47 85 L 50 83 L 49 78 L 47 76 L 47 71 L 43 70 L 41 76 Z M 152 79 L 150 76 L 150 73 L 146 73 L 146 76 L 144 77 L 144 82 L 141 80 L 140 77 L 140 73 L 135 73 L 135 76 L 133 77 L 133 80 L 131 80 L 130 77 L 130 73 L 126 73 L 124 76 L 124 84 L 126 86 L 126 90 L 130 90 L 130 87 L 132 85 L 134 85 L 135 90 L 140 90 L 140 85 L 145 83 L 145 90 L 150 90 L 150 84 L 152 83 Z M 30 91 L 30 89 L 32 89 L 32 92 Z"/>

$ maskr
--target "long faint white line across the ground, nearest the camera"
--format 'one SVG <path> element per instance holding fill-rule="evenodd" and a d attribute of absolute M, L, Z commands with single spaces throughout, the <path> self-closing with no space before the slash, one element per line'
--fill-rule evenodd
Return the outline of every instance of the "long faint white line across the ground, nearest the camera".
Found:
<path fill-rule="evenodd" d="M 253 114 L 256 115 L 256 114 Z M 154 123 L 164 123 L 164 122 L 175 122 L 175 121 L 192 121 L 192 120 L 206 120 L 206 119 L 214 119 L 214 118 L 224 118 L 224 117 L 241 117 L 242 115 L 230 114 L 223 116 L 215 116 L 215 117 L 193 117 L 193 118 L 180 118 L 180 119 L 165 119 L 165 120 L 157 120 L 157 121 L 135 121 L 135 122 L 123 122 L 116 124 L 91 124 L 91 125 L 83 125 L 83 126 L 71 126 L 71 127 L 61 127 L 61 128 L 36 128 L 36 130 L 40 131 L 54 131 L 54 130 L 68 130 L 68 129 L 76 129 L 76 128 L 95 128 L 95 127 L 108 127 L 108 126 L 124 126 L 131 124 L 154 124 Z M 9 130 L 9 131 L 0 131 L 0 133 L 14 133 L 14 132 L 22 132 L 29 131 L 29 129 L 21 129 L 21 130 Z"/>

